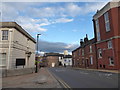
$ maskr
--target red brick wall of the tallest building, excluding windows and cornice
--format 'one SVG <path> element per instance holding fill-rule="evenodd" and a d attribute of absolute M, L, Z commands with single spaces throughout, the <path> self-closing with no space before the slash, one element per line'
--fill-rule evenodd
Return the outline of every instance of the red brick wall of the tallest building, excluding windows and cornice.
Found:
<path fill-rule="evenodd" d="M 104 7 L 105 8 L 105 7 Z M 118 48 L 118 44 L 120 42 L 120 29 L 118 24 L 120 6 L 110 8 L 106 10 L 101 16 L 97 17 L 99 21 L 99 31 L 100 31 L 100 41 L 96 42 L 96 50 L 97 50 L 97 61 L 99 69 L 120 69 L 120 60 L 118 56 L 120 56 L 120 49 Z M 108 12 L 108 19 L 110 25 L 110 31 L 106 31 L 105 24 L 105 13 Z M 99 15 L 101 12 L 98 12 Z M 94 20 L 96 20 L 94 19 Z M 95 22 L 94 22 L 95 23 Z M 94 24 L 95 25 L 95 24 Z M 96 35 L 96 26 L 95 27 L 95 36 Z M 112 47 L 108 47 L 108 43 L 112 43 Z M 102 57 L 98 56 L 98 49 L 101 49 Z M 112 59 L 112 63 L 111 63 Z"/>

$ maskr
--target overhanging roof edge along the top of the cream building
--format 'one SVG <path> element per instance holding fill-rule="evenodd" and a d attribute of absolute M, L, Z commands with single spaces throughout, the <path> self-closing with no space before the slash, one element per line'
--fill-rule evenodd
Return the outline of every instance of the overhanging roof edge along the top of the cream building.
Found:
<path fill-rule="evenodd" d="M 0 22 L 0 28 L 15 28 L 26 37 L 28 37 L 30 40 L 32 40 L 34 43 L 36 43 L 35 39 L 16 22 Z"/>

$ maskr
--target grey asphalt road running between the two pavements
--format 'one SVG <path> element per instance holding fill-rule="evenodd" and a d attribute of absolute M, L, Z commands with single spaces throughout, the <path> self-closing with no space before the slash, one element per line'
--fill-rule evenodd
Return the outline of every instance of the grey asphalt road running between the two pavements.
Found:
<path fill-rule="evenodd" d="M 49 68 L 69 88 L 118 88 L 118 74 L 72 68 Z"/>

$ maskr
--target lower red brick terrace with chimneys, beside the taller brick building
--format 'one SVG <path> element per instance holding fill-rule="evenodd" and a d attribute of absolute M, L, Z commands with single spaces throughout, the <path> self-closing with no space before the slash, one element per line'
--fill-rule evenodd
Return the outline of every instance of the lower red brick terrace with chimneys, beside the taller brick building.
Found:
<path fill-rule="evenodd" d="M 72 51 L 73 66 L 80 68 L 96 68 L 95 39 L 81 39 L 80 47 Z"/>

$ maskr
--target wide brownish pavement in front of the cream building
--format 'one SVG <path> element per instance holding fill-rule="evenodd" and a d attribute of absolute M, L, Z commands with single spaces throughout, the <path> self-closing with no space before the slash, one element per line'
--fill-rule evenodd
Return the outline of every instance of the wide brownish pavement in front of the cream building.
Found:
<path fill-rule="evenodd" d="M 60 83 L 49 73 L 47 68 L 39 69 L 38 73 L 5 77 L 3 88 L 62 88 Z"/>

